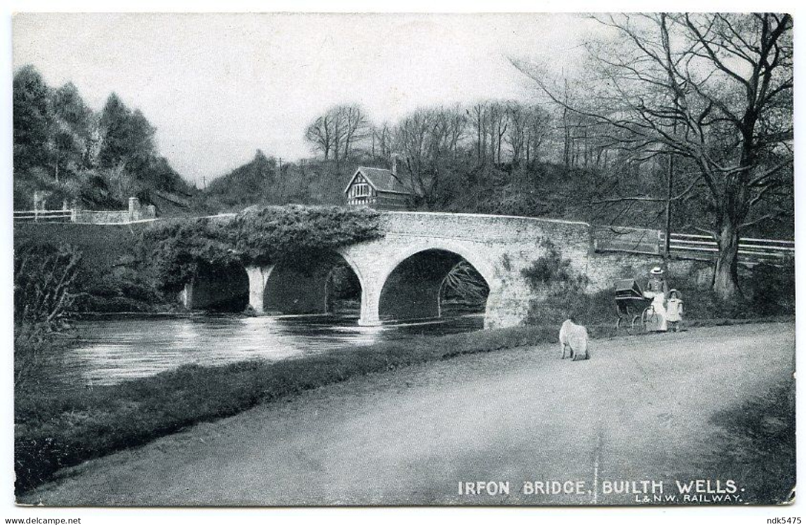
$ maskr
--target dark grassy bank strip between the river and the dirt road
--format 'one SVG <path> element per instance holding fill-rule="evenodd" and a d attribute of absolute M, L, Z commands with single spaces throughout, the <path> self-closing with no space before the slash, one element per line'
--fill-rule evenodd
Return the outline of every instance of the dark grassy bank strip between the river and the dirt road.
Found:
<path fill-rule="evenodd" d="M 725 325 L 747 320 L 700 320 Z M 612 326 L 591 327 L 592 337 L 617 335 Z M 647 334 L 647 337 L 648 336 Z M 556 327 L 518 327 L 413 337 L 278 362 L 181 366 L 112 386 L 18 389 L 15 396 L 17 493 L 47 482 L 60 469 L 128 449 L 216 420 L 256 404 L 297 395 L 413 364 L 555 342 Z"/>

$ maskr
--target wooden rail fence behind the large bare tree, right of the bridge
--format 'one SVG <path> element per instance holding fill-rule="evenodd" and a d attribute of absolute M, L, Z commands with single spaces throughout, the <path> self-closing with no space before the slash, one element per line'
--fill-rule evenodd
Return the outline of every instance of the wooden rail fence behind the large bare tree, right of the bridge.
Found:
<path fill-rule="evenodd" d="M 658 229 L 596 226 L 593 229 L 593 249 L 597 252 L 662 255 L 666 249 L 666 235 Z M 669 254 L 677 258 L 713 260 L 718 253 L 717 242 L 710 235 L 672 233 L 669 236 Z M 740 238 L 738 255 L 740 263 L 780 264 L 795 256 L 795 242 Z"/>

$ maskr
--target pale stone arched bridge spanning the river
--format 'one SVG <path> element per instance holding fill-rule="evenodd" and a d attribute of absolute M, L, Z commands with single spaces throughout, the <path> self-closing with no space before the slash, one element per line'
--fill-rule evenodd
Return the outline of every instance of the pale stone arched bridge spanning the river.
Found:
<path fill-rule="evenodd" d="M 592 229 L 585 222 L 423 212 L 384 213 L 381 221 L 383 238 L 272 266 L 247 267 L 241 275 L 227 272 L 197 279 L 185 287 L 185 304 L 204 308 L 213 298 L 221 300 L 248 287 L 248 302 L 258 313 L 325 313 L 330 271 L 346 263 L 360 283 L 359 325 L 378 325 L 386 318 L 430 318 L 440 314 L 448 271 L 464 259 L 489 287 L 485 328 L 500 328 L 526 318 L 534 291 L 521 270 L 546 253 L 546 241 L 588 275 L 592 291 L 611 286 L 625 264 L 623 256 L 593 253 Z M 638 262 L 657 263 L 646 256 Z"/>

